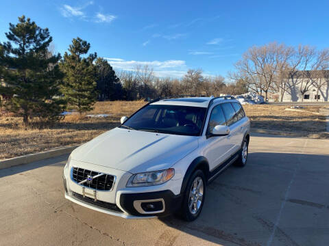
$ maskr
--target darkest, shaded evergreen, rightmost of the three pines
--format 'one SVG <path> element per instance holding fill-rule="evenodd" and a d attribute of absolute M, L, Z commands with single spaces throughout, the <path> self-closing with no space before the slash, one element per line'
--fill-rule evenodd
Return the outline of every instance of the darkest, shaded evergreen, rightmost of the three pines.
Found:
<path fill-rule="evenodd" d="M 98 57 L 95 61 L 97 69 L 97 92 L 99 100 L 117 100 L 121 97 L 122 87 L 119 78 L 106 59 Z"/>

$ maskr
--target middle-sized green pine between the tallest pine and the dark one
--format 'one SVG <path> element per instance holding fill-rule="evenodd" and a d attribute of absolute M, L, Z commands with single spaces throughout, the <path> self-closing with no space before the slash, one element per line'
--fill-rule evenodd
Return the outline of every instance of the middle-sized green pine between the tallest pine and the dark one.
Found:
<path fill-rule="evenodd" d="M 60 67 L 65 73 L 62 93 L 69 109 L 79 113 L 89 111 L 96 101 L 96 68 L 93 61 L 97 54 L 86 55 L 90 44 L 81 38 L 73 38 L 69 53 L 65 52 Z"/>

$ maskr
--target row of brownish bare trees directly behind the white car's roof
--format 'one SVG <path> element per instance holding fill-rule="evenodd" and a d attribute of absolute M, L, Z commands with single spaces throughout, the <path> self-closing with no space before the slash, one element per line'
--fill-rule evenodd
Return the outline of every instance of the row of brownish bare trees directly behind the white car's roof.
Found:
<path fill-rule="evenodd" d="M 226 83 L 221 76 L 205 77 L 201 69 L 189 69 L 182 79 L 156 77 L 149 66 L 136 66 L 118 75 L 125 100 L 178 96 L 219 96 L 220 94 L 243 94 L 247 87 L 243 81 Z"/>

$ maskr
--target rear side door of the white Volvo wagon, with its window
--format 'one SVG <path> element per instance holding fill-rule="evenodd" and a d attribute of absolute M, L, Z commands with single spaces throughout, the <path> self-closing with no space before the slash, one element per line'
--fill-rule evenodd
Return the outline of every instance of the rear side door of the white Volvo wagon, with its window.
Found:
<path fill-rule="evenodd" d="M 241 131 L 239 128 L 238 117 L 230 102 L 225 102 L 221 105 L 226 118 L 226 123 L 230 127 L 230 134 L 227 136 L 227 141 L 230 142 L 230 156 L 235 154 L 239 149 L 241 143 L 239 143 Z"/>

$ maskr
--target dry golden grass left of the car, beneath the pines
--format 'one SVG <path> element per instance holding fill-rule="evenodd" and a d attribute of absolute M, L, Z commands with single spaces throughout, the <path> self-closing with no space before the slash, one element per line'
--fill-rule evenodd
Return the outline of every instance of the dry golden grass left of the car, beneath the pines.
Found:
<path fill-rule="evenodd" d="M 135 102 L 97 102 L 88 113 L 108 113 L 108 118 L 85 118 L 84 115 L 67 115 L 54 126 L 42 129 L 23 126 L 22 118 L 0 117 L 0 160 L 21 156 L 60 146 L 84 143 L 119 125 L 123 115 L 131 115 L 145 105 Z"/>

